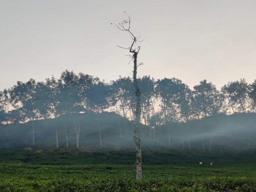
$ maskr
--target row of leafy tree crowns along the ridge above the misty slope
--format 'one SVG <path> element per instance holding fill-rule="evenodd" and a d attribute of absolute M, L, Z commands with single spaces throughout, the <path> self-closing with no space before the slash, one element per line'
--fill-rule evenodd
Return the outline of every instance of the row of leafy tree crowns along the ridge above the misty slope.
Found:
<path fill-rule="evenodd" d="M 152 128 L 166 122 L 186 122 L 207 116 L 256 111 L 256 80 L 228 82 L 221 90 L 206 80 L 191 90 L 176 78 L 138 79 L 141 91 L 141 122 Z M 0 123 L 24 123 L 73 112 L 114 111 L 134 119 L 134 86 L 129 77 L 110 83 L 91 75 L 63 71 L 46 82 L 17 82 L 0 92 Z"/>

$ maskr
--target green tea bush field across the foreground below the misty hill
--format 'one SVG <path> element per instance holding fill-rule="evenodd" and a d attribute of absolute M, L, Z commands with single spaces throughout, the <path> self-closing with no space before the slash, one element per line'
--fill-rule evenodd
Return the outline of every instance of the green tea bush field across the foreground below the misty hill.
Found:
<path fill-rule="evenodd" d="M 0 150 L 0 191 L 256 191 L 255 152 L 144 151 L 141 181 L 135 167 L 133 151 Z"/>

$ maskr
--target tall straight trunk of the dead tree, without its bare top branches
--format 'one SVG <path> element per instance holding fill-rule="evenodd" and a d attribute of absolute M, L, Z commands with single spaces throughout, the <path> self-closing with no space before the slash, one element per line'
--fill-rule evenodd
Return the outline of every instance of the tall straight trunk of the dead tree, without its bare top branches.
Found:
<path fill-rule="evenodd" d="M 141 161 L 141 146 L 140 146 L 140 90 L 138 86 L 137 80 L 137 52 L 134 52 L 134 71 L 133 71 L 133 83 L 135 88 L 135 96 L 136 96 L 136 107 L 135 107 L 135 149 L 136 149 L 136 179 L 142 179 L 142 161 Z"/>

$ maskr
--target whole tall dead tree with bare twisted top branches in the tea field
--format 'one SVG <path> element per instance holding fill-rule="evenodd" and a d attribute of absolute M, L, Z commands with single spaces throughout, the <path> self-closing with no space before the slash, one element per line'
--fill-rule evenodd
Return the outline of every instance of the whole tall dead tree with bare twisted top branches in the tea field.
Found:
<path fill-rule="evenodd" d="M 126 12 L 124 12 L 125 14 L 127 14 Z M 130 33 L 131 38 L 132 38 L 132 44 L 131 47 L 125 48 L 125 47 L 121 47 L 119 45 L 117 45 L 120 48 L 123 49 L 128 49 L 129 52 L 132 55 L 128 55 L 131 60 L 130 62 L 133 60 L 133 84 L 134 84 L 134 88 L 135 88 L 135 96 L 136 96 L 136 106 L 135 106 L 135 129 L 134 129 L 134 140 L 135 140 L 135 149 L 136 149 L 136 179 L 140 180 L 142 178 L 142 159 L 141 159 L 141 144 L 140 144 L 140 114 L 141 114 L 141 103 L 140 103 L 140 89 L 138 86 L 138 80 L 137 80 L 137 67 L 139 65 L 142 65 L 143 63 L 138 63 L 137 62 L 137 57 L 138 57 L 138 53 L 140 51 L 140 46 L 138 46 L 138 42 L 142 42 L 139 41 L 138 39 L 140 38 L 140 36 L 137 38 L 133 35 L 133 33 L 130 31 L 130 25 L 131 25 L 131 18 L 130 16 L 127 14 L 128 19 L 127 20 L 123 20 L 122 23 L 119 23 L 118 25 L 116 25 L 116 27 L 118 29 L 120 29 L 121 31 L 127 31 Z M 112 24 L 112 23 L 111 23 Z M 129 62 L 129 63 L 130 63 Z"/>

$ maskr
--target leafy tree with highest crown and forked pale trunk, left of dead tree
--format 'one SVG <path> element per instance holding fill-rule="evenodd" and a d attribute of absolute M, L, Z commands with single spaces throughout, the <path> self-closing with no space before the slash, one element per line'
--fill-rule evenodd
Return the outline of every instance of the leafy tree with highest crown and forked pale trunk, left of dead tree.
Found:
<path fill-rule="evenodd" d="M 77 113 L 78 109 L 83 112 L 85 109 L 90 109 L 88 104 L 90 100 L 90 89 L 99 82 L 99 78 L 94 78 L 91 75 L 79 73 L 76 75 L 73 71 L 65 70 L 61 73 L 58 82 L 53 81 L 55 95 L 54 101 L 56 102 L 56 113 Z M 56 86 L 57 84 L 57 86 Z M 93 97 L 93 96 L 92 96 Z M 79 135 L 80 135 L 80 118 L 73 117 L 74 127 L 76 131 L 76 147 L 79 148 Z M 67 131 L 66 139 L 67 139 Z M 67 142 L 68 143 L 68 142 Z"/>

